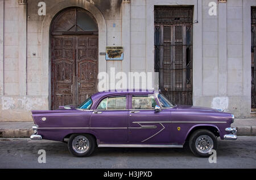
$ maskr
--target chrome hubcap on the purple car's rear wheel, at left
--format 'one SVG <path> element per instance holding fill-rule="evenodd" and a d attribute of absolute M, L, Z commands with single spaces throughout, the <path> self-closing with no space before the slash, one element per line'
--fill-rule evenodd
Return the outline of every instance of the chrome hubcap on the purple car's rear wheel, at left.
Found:
<path fill-rule="evenodd" d="M 89 146 L 89 140 L 85 136 L 76 136 L 72 141 L 72 148 L 77 153 L 85 153 Z"/>

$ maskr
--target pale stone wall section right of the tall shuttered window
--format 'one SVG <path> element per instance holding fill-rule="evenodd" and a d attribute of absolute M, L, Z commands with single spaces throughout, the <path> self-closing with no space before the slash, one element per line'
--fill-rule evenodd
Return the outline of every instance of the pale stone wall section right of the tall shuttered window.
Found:
<path fill-rule="evenodd" d="M 250 47 L 251 42 L 243 39 L 245 5 L 242 0 L 219 3 L 217 16 L 209 16 L 209 2 L 203 1 L 203 96 L 194 103 L 249 117 L 251 60 L 243 44 Z"/>

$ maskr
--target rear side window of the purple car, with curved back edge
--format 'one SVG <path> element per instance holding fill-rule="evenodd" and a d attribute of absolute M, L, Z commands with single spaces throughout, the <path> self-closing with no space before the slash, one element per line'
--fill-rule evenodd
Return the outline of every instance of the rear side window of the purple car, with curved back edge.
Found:
<path fill-rule="evenodd" d="M 105 98 L 98 105 L 97 109 L 98 110 L 125 110 L 126 96 Z"/>

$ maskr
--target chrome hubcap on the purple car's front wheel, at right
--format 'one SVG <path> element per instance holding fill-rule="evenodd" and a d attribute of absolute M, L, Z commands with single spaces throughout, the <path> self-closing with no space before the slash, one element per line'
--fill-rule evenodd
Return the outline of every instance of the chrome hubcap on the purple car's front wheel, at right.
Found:
<path fill-rule="evenodd" d="M 207 135 L 201 135 L 197 137 L 196 139 L 196 149 L 200 153 L 209 153 L 210 150 L 213 148 L 213 140 L 210 138 L 210 136 Z"/>

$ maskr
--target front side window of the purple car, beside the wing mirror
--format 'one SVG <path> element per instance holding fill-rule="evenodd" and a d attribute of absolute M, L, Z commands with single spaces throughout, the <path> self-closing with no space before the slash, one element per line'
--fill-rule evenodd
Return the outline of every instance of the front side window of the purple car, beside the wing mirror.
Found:
<path fill-rule="evenodd" d="M 133 109 L 154 109 L 156 101 L 154 95 L 133 96 L 131 99 L 131 107 Z"/>

